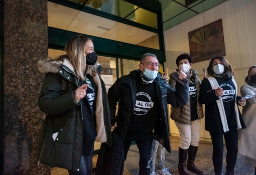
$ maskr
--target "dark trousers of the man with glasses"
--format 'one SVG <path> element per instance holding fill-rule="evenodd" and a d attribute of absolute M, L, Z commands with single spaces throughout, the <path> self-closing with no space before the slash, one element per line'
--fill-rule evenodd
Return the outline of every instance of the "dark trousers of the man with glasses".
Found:
<path fill-rule="evenodd" d="M 124 140 L 123 142 L 124 160 L 126 159 L 131 142 L 132 142 L 131 140 Z M 152 137 L 145 140 L 136 141 L 136 144 L 139 148 L 139 153 L 140 153 L 139 175 L 149 175 L 150 167 L 152 165 L 152 161 L 151 161 Z"/>

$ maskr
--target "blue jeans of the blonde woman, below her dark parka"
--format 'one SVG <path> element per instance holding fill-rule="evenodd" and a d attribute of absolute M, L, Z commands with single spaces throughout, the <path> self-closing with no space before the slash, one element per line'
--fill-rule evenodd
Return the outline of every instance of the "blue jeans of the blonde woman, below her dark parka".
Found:
<path fill-rule="evenodd" d="M 91 165 L 92 165 L 92 154 L 82 155 L 80 160 L 79 171 L 73 172 L 68 170 L 69 175 L 91 175 Z"/>

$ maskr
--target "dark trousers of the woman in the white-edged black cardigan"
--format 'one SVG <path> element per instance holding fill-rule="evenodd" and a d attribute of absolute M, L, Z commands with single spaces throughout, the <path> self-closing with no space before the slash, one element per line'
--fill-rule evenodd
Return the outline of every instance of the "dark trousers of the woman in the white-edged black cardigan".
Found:
<path fill-rule="evenodd" d="M 212 161 L 214 171 L 216 174 L 221 174 L 222 171 L 222 158 L 223 158 L 223 135 L 225 138 L 227 155 L 226 155 L 226 169 L 233 170 L 236 163 L 238 151 L 238 132 L 236 126 L 230 126 L 227 133 L 210 132 L 213 153 Z"/>

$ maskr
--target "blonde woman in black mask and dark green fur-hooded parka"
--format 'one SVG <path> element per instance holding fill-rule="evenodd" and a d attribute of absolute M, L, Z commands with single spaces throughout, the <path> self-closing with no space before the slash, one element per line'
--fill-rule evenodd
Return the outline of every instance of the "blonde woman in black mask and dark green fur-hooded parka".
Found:
<path fill-rule="evenodd" d="M 38 105 L 46 113 L 38 145 L 39 163 L 90 174 L 94 141 L 111 143 L 104 82 L 96 72 L 97 54 L 85 35 L 72 37 L 66 55 L 38 62 L 45 74 Z"/>

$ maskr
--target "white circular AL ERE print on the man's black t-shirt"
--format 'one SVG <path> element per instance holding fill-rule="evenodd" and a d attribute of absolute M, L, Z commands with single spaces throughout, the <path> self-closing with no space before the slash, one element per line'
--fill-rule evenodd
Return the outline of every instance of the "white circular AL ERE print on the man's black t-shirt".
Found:
<path fill-rule="evenodd" d="M 145 92 L 138 92 L 136 94 L 136 104 L 134 107 L 134 113 L 137 115 L 146 114 L 152 107 L 154 102 L 152 102 L 149 94 Z"/>

